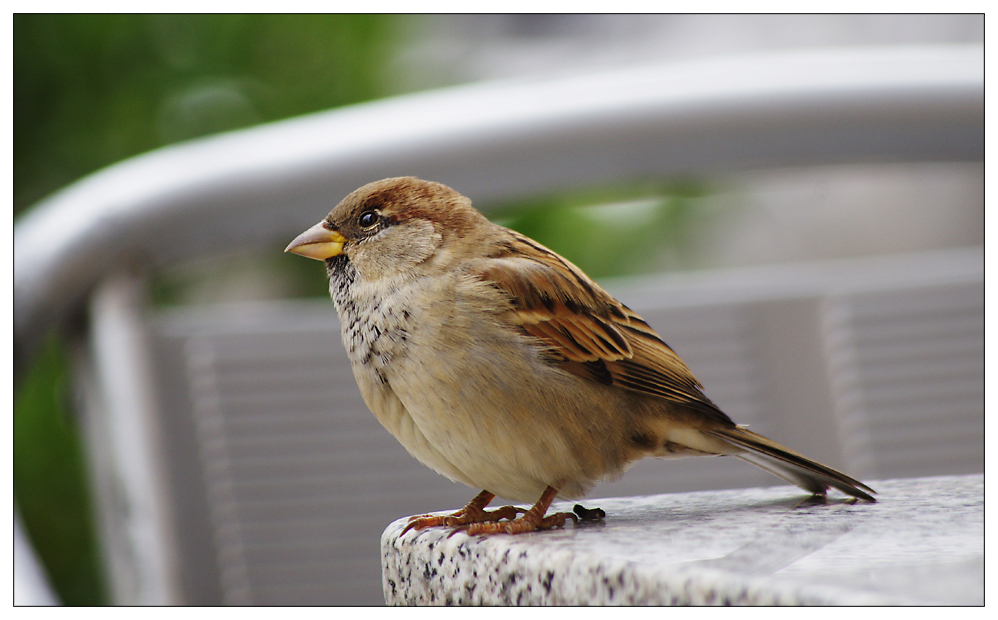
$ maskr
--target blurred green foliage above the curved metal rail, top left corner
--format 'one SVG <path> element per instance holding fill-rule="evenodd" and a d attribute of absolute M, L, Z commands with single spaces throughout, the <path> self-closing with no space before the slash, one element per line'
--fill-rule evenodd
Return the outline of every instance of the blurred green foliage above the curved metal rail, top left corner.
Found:
<path fill-rule="evenodd" d="M 14 15 L 14 211 L 209 133 L 377 97 L 384 15 Z"/>

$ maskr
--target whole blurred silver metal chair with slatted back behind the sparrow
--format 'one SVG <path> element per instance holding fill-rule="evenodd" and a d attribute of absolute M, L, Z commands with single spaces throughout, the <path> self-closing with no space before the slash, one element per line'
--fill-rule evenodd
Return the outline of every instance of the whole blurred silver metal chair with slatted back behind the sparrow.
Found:
<path fill-rule="evenodd" d="M 19 221 L 15 372 L 46 330 L 88 310 L 74 368 L 115 602 L 377 603 L 385 524 L 462 505 L 469 490 L 411 459 L 364 410 L 329 302 L 153 310 L 150 270 L 280 251 L 349 191 L 398 174 L 447 183 L 487 211 L 680 174 L 982 159 L 980 46 L 714 59 L 292 119 L 123 162 Z M 617 292 L 737 420 L 860 477 L 976 472 L 981 257 Z M 772 482 L 702 461 L 643 464 L 597 493 Z"/>

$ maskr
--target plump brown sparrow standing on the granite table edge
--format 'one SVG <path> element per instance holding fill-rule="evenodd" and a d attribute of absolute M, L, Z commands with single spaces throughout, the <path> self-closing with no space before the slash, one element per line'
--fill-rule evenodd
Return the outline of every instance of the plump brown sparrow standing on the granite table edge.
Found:
<path fill-rule="evenodd" d="M 862 482 L 736 425 L 640 316 L 445 185 L 365 185 L 286 251 L 325 261 L 378 421 L 420 462 L 483 489 L 409 527 L 562 526 L 575 515 L 545 516 L 555 497 L 646 456 L 736 455 L 813 494 L 874 501 Z M 496 495 L 536 503 L 486 511 Z"/>

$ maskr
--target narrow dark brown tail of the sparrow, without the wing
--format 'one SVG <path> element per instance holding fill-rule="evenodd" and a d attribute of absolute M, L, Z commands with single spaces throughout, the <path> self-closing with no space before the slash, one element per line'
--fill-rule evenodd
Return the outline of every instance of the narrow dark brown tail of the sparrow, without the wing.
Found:
<path fill-rule="evenodd" d="M 732 426 L 704 432 L 743 449 L 744 452 L 737 454 L 739 458 L 815 495 L 824 495 L 828 491 L 828 487 L 835 487 L 853 497 L 868 502 L 876 501 L 869 494 L 876 493 L 876 491 L 859 480 L 821 463 L 816 463 L 793 450 L 784 448 L 775 441 L 766 439 L 758 433 L 753 433 L 747 428 Z"/>

